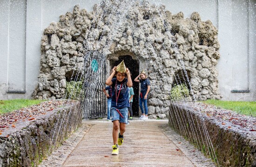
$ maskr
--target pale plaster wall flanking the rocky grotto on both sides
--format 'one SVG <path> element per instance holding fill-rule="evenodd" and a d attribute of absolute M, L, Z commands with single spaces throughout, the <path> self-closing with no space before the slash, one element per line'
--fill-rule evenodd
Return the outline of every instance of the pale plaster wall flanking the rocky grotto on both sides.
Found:
<path fill-rule="evenodd" d="M 9 17 L 13 17 L 13 15 L 9 14 L 7 7 L 9 1 L 13 4 L 15 1 L 20 3 L 20 0 L 0 1 L 0 41 L 3 41 L 0 45 L 0 99 L 31 98 L 39 74 L 40 40 L 43 30 L 51 22 L 59 21 L 61 14 L 72 12 L 76 4 L 79 4 L 81 9 L 85 8 L 90 12 L 93 10 L 93 5 L 99 3 L 100 0 L 21 0 L 27 3 L 27 9 L 24 9 L 26 13 L 26 36 L 22 37 L 26 41 L 25 58 L 17 60 L 12 65 L 20 68 L 18 73 L 14 72 L 16 75 L 20 74 L 16 78 L 15 83 L 18 86 L 15 88 L 20 90 L 24 88 L 26 94 L 6 93 L 9 88 L 8 73 L 13 72 L 12 69 L 14 68 L 10 68 L 8 58 L 17 55 L 17 53 L 20 54 L 20 51 L 24 52 L 22 49 L 10 52 L 9 42 L 12 27 L 8 21 L 10 20 Z M 165 5 L 166 10 L 172 14 L 183 12 L 185 18 L 189 18 L 191 13 L 196 11 L 203 21 L 211 20 L 219 30 L 221 58 L 217 64 L 217 69 L 222 100 L 256 100 L 256 0 L 149 1 L 158 5 Z M 24 29 L 22 31 L 24 32 Z M 19 43 L 22 42 L 19 41 L 16 45 Z M 23 47 L 23 44 L 20 46 Z M 24 82 L 26 83 L 25 87 Z M 22 84 L 23 87 L 20 87 Z M 231 90 L 234 89 L 249 89 L 250 93 L 231 93 Z"/>

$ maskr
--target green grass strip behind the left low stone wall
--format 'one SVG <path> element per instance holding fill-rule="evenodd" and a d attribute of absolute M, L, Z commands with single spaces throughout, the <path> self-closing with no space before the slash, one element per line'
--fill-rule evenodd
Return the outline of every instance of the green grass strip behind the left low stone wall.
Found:
<path fill-rule="evenodd" d="M 39 104 L 42 100 L 14 99 L 0 100 L 0 114 L 12 112 L 15 109 L 21 109 L 34 104 Z"/>

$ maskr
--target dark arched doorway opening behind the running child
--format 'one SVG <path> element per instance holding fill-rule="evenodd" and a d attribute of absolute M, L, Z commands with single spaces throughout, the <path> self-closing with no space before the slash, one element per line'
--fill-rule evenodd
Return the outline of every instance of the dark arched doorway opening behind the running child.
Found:
<path fill-rule="evenodd" d="M 133 90 L 134 90 L 134 96 L 133 96 L 133 116 L 139 116 L 139 83 L 135 82 L 134 79 L 139 75 L 139 61 L 133 59 L 129 55 L 120 56 L 119 60 L 112 60 L 110 61 L 111 69 L 114 66 L 117 66 L 121 63 L 121 61 L 124 60 L 125 66 L 130 70 L 130 73 L 132 74 L 131 78 L 133 81 Z"/>

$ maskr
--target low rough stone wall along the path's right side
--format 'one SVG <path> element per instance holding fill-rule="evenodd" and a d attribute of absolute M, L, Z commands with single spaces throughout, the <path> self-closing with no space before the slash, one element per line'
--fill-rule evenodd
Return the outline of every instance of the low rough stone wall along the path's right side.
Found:
<path fill-rule="evenodd" d="M 199 149 L 209 155 L 209 144 L 207 144 L 209 140 L 205 137 L 208 133 L 221 166 L 256 166 L 256 133 L 249 131 L 250 129 L 241 129 L 224 120 L 218 122 L 191 109 L 188 105 L 179 104 L 170 106 L 169 125 L 195 146 L 199 145 Z"/>

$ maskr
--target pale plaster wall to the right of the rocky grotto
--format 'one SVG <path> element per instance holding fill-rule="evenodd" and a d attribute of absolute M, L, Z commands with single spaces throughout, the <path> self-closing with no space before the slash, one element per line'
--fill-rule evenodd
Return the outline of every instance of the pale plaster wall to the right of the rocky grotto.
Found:
<path fill-rule="evenodd" d="M 221 58 L 217 69 L 222 100 L 256 101 L 256 0 L 219 0 L 218 11 Z"/>

